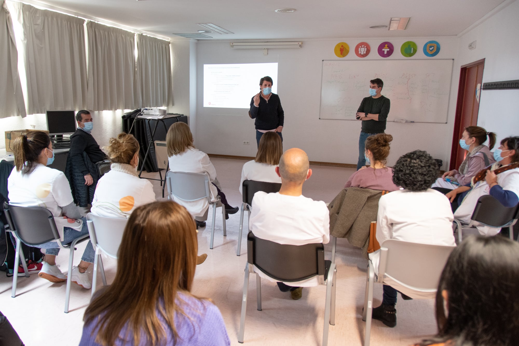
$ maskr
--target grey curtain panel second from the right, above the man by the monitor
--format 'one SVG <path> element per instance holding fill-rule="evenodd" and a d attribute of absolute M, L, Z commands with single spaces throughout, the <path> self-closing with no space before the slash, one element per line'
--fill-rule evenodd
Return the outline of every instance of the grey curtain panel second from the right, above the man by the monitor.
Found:
<path fill-rule="evenodd" d="M 135 34 L 87 21 L 88 109 L 134 109 Z"/>

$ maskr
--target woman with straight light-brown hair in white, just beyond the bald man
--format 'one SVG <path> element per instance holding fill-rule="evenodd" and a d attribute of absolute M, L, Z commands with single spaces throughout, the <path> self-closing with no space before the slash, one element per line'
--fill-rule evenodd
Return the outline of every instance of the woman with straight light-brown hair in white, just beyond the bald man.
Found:
<path fill-rule="evenodd" d="M 245 162 L 241 169 L 240 193 L 245 180 L 281 183 L 281 177 L 276 174 L 279 158 L 283 154 L 281 137 L 276 132 L 265 132 L 260 139 L 256 158 Z"/>

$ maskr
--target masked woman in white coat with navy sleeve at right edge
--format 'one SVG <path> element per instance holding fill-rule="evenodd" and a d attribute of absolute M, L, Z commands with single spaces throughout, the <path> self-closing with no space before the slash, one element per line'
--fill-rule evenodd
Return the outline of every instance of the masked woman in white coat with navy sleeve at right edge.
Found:
<path fill-rule="evenodd" d="M 494 158 L 497 162 L 476 174 L 470 183 L 446 194 L 453 204 L 459 204 L 454 212 L 456 219 L 469 223 L 477 200 L 483 195 L 495 197 L 505 207 L 519 203 L 519 137 L 503 139 Z M 481 224 L 476 227 L 482 235 L 499 232 Z"/>

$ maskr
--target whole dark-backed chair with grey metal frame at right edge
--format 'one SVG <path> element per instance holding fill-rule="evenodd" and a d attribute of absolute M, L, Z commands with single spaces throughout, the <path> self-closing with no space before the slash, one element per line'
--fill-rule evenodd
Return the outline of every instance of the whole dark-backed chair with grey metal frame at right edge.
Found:
<path fill-rule="evenodd" d="M 514 239 L 514 224 L 519 218 L 519 203 L 515 207 L 504 207 L 501 202 L 490 195 L 477 199 L 476 206 L 468 224 L 454 219 L 454 232 L 458 232 L 458 243 L 461 243 L 463 229 L 476 229 L 475 224 L 481 223 L 491 228 L 508 227 L 510 239 Z M 519 236 L 517 237 L 519 241 Z"/>

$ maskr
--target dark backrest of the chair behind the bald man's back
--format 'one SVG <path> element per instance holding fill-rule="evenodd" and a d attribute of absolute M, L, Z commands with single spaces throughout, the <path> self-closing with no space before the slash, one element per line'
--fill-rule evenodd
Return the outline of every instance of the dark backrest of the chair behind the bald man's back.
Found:
<path fill-rule="evenodd" d="M 247 262 L 265 274 L 284 282 L 302 281 L 323 276 L 324 246 L 322 243 L 286 245 L 247 235 Z"/>

